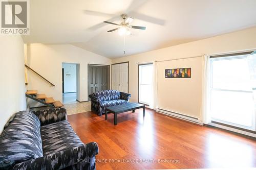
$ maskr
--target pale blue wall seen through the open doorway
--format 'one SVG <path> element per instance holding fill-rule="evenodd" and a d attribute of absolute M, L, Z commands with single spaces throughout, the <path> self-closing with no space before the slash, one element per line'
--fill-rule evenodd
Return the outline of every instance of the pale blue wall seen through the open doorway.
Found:
<path fill-rule="evenodd" d="M 64 69 L 64 92 L 76 92 L 76 64 L 62 63 Z"/>

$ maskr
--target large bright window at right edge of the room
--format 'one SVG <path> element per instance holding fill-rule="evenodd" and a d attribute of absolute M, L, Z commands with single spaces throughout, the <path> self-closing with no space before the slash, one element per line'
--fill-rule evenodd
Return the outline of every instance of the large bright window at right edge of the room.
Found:
<path fill-rule="evenodd" d="M 247 55 L 210 59 L 210 114 L 215 122 L 255 131 Z"/>

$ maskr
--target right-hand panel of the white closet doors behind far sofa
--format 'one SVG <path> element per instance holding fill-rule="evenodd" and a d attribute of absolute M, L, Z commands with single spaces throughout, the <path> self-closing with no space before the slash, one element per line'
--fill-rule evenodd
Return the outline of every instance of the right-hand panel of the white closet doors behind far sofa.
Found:
<path fill-rule="evenodd" d="M 128 63 L 119 65 L 119 91 L 128 93 Z"/>

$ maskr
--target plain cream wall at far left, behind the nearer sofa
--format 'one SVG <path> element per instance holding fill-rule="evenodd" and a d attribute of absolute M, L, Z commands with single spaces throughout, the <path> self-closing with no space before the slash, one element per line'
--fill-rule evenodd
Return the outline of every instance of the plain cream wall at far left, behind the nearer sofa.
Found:
<path fill-rule="evenodd" d="M 17 111 L 26 110 L 24 43 L 20 36 L 0 37 L 0 134 Z"/>

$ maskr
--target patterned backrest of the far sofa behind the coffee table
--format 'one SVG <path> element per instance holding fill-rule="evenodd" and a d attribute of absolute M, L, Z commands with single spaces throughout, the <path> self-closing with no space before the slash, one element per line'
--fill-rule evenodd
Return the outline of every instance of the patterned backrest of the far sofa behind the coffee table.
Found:
<path fill-rule="evenodd" d="M 120 91 L 117 90 L 102 90 L 94 93 L 101 101 L 111 101 L 120 99 Z"/>

